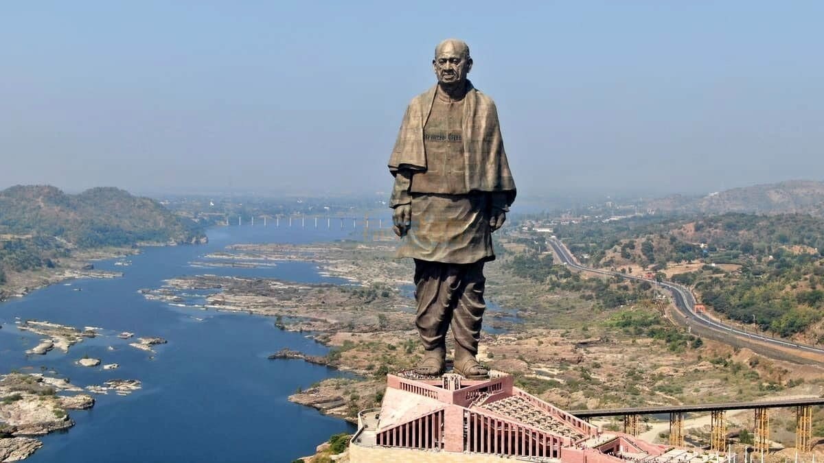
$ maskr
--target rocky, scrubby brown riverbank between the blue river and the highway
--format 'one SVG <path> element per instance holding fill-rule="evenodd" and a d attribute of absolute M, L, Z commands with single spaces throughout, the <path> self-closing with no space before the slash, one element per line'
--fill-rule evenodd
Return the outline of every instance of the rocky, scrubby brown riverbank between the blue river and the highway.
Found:
<path fill-rule="evenodd" d="M 219 302 L 210 307 L 226 304 L 231 310 L 245 308 L 281 316 L 280 323 L 287 330 L 314 331 L 315 339 L 333 348 L 328 365 L 357 372 L 363 379 L 321 381 L 290 395 L 289 400 L 353 421 L 358 409 L 380 404 L 386 372 L 409 368 L 422 354 L 414 331 L 414 301 L 398 287 L 411 281 L 410 267 L 393 259 L 393 252 L 394 246 L 379 243 L 236 245 L 213 255 L 224 261 L 311 260 L 322 271 L 345 274 L 358 288 L 386 284 L 393 296 L 377 305 L 357 299 L 342 301 L 339 295 L 345 291 L 334 285 L 321 290 L 200 276 L 170 282 L 170 286 L 185 290 L 207 283 L 201 288 L 218 291 L 207 298 Z M 487 294 L 513 309 L 510 312 L 518 320 L 504 320 L 507 330 L 503 334 L 485 333 L 479 359 L 512 373 L 518 386 L 562 408 L 690 404 L 707 397 L 753 400 L 776 393 L 798 394 L 803 392 L 799 384 L 820 381 L 822 372 L 814 367 L 798 367 L 747 349 L 698 342 L 689 334 L 679 334 L 653 301 L 596 310 L 584 293 L 547 291 L 542 283 L 509 274 L 505 262 L 487 266 Z M 496 315 L 500 314 L 488 311 L 485 326 Z M 378 316 L 385 320 L 383 326 L 376 327 Z M 638 323 L 659 324 L 662 333 L 672 334 L 651 336 L 648 333 L 658 332 L 638 330 L 635 321 L 628 325 L 620 320 L 648 320 Z M 291 353 L 282 358 L 302 356 Z"/>

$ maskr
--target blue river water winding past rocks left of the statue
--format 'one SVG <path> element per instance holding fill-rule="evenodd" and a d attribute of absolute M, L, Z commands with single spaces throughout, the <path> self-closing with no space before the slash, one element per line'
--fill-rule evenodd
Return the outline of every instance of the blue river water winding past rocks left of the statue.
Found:
<path fill-rule="evenodd" d="M 303 334 L 276 329 L 271 318 L 170 306 L 138 293 L 141 288 L 162 286 L 163 279 L 187 274 L 344 283 L 322 277 L 311 263 L 204 269 L 192 268 L 190 262 L 232 243 L 330 241 L 351 232 L 335 227 L 217 228 L 208 232 L 208 245 L 147 248 L 128 258 L 130 266 L 115 266 L 114 260 L 95 264 L 98 269 L 124 272 L 122 278 L 75 280 L 71 286 L 54 285 L 0 304 L 0 372 L 40 372 L 45 367 L 56 372 L 51 376 L 69 377 L 77 386 L 101 385 L 114 378 L 143 381 L 143 389 L 132 395 L 95 395 L 94 408 L 70 411 L 77 425 L 66 433 L 42 437 L 44 447 L 27 461 L 293 461 L 313 453 L 331 434 L 352 432 L 353 427 L 342 420 L 287 400 L 298 387 L 342 373 L 266 358 L 284 347 L 322 355 L 324 346 Z M 16 330 L 16 317 L 103 330 L 95 339 L 75 344 L 68 354 L 53 350 L 27 357 L 26 349 L 41 336 Z M 121 331 L 135 337 L 160 336 L 169 343 L 155 346 L 157 353 L 152 355 L 130 347 L 133 339 L 118 339 L 115 334 Z M 120 367 L 75 365 L 83 355 Z"/>

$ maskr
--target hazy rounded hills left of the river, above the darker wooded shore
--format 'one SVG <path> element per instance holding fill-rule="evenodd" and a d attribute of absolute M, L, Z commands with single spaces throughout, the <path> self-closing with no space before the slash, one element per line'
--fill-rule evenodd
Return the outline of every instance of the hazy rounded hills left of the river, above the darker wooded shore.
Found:
<path fill-rule="evenodd" d="M 0 191 L 0 235 L 4 234 L 56 237 L 80 248 L 205 239 L 194 222 L 177 217 L 154 199 L 117 188 L 65 194 L 48 185 L 18 185 Z"/>

